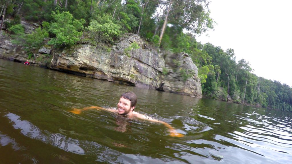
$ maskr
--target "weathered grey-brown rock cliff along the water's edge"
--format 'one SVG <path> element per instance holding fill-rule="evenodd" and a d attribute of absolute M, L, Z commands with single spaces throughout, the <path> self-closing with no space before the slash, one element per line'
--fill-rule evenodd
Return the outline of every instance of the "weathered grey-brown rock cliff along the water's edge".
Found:
<path fill-rule="evenodd" d="M 24 62 L 27 55 L 10 41 L 1 41 L 0 58 Z M 133 46 L 135 45 L 135 46 Z M 138 46 L 137 46 L 138 45 Z M 51 56 L 50 69 L 132 86 L 202 97 L 198 68 L 185 53 L 151 49 L 138 35 L 127 34 L 112 47 L 78 44 L 63 50 L 43 47 L 30 62 Z"/>

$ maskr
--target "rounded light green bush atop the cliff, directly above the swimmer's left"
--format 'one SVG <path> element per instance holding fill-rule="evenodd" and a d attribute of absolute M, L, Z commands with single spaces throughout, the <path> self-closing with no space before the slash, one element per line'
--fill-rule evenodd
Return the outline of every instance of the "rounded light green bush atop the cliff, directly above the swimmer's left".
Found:
<path fill-rule="evenodd" d="M 114 24 L 112 20 L 107 20 L 102 24 L 96 20 L 92 20 L 86 29 L 90 33 L 90 38 L 96 42 L 110 42 L 117 39 L 121 34 L 121 26 Z"/>

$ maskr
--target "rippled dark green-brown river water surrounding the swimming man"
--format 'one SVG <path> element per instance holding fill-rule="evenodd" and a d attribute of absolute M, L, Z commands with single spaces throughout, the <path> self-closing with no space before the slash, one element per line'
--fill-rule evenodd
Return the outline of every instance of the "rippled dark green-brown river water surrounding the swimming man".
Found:
<path fill-rule="evenodd" d="M 164 125 L 72 108 L 116 107 Z M 198 99 L 0 60 L 0 163 L 292 163 L 291 113 Z"/>

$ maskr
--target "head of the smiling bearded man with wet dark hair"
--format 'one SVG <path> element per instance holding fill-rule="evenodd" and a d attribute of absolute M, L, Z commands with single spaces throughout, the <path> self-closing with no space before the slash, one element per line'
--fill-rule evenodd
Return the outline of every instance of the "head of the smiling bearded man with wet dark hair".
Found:
<path fill-rule="evenodd" d="M 132 114 L 137 103 L 137 96 L 133 92 L 123 93 L 118 103 L 118 113 L 122 115 Z"/>

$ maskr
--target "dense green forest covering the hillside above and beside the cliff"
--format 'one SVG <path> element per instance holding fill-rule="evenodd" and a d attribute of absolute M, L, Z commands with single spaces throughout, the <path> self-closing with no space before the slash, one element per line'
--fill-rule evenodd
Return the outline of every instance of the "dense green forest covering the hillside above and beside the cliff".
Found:
<path fill-rule="evenodd" d="M 124 33 L 135 33 L 150 44 L 188 53 L 199 68 L 203 95 L 218 100 L 292 111 L 292 89 L 253 74 L 248 61 L 236 60 L 234 50 L 223 50 L 195 39 L 216 24 L 208 0 L 4 0 L 1 26 L 32 56 L 48 44 L 62 48 L 87 41 L 113 44 Z M 7 19 L 6 19 L 7 18 Z M 25 34 L 21 19 L 42 26 Z M 1 29 L 1 28 L 0 28 Z M 83 40 L 81 39 L 82 36 Z M 2 33 L 1 33 L 2 36 Z"/>

